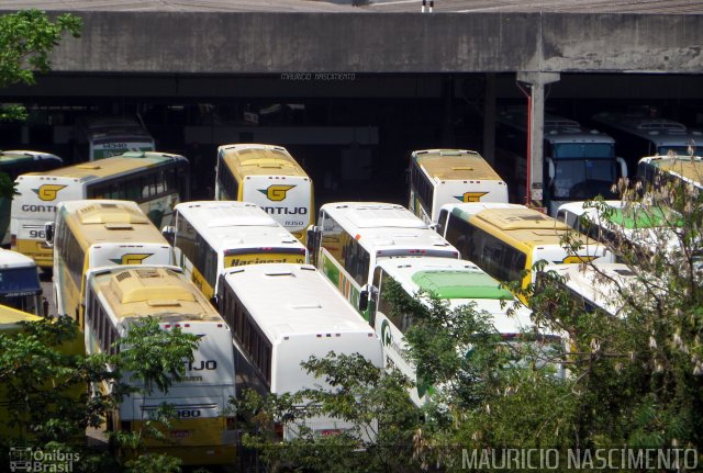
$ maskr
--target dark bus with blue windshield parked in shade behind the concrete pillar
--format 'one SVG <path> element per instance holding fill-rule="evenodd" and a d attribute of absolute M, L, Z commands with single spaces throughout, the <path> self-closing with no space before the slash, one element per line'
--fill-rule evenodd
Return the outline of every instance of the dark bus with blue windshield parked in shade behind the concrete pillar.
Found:
<path fill-rule="evenodd" d="M 526 195 L 527 114 L 505 110 L 496 117 L 498 171 L 510 184 L 511 202 L 524 202 Z M 596 195 L 617 196 L 612 188 L 628 176 L 625 160 L 615 156 L 615 140 L 578 122 L 546 114 L 544 120 L 543 204 L 556 215 L 563 202 L 582 201 Z"/>

